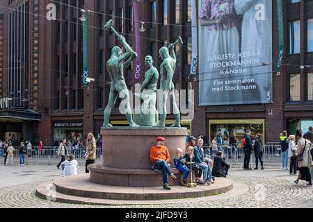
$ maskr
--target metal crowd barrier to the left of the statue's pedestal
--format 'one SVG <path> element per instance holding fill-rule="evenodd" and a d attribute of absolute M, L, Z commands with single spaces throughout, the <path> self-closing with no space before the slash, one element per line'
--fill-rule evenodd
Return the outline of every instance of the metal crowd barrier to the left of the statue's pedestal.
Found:
<path fill-rule="evenodd" d="M 19 148 L 20 146 L 14 146 L 15 152 L 13 157 L 13 164 L 19 164 Z M 97 159 L 96 161 L 99 162 L 100 157 L 102 155 L 102 148 L 97 147 Z M 0 151 L 0 153 L 3 153 Z M 86 148 L 67 148 L 67 153 L 73 154 L 75 156 L 75 160 L 78 162 L 85 162 L 86 157 Z M 44 146 L 42 151 L 37 147 L 33 147 L 31 150 L 28 150 L 25 153 L 25 163 L 26 164 L 57 164 L 60 162 L 61 157 L 58 155 L 58 146 Z M 4 162 L 4 156 L 0 155 L 1 157 L 1 164 Z"/>

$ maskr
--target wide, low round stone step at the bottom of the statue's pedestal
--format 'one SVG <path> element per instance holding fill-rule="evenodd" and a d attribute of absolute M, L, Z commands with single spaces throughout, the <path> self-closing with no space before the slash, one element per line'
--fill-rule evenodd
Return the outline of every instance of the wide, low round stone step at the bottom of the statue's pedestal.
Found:
<path fill-rule="evenodd" d="M 167 200 L 180 198 L 198 198 L 223 194 L 233 188 L 232 180 L 216 178 L 214 185 L 198 185 L 188 188 L 172 186 L 171 190 L 158 187 L 116 187 L 97 185 L 89 181 L 88 174 L 58 178 L 53 184 L 56 188 L 56 200 L 67 203 L 93 203 L 109 204 L 112 200 Z M 36 195 L 47 198 L 51 190 L 47 189 L 49 183 L 37 187 Z M 111 201 L 110 201 L 111 200 Z M 177 200 L 178 201 L 178 200 Z"/>

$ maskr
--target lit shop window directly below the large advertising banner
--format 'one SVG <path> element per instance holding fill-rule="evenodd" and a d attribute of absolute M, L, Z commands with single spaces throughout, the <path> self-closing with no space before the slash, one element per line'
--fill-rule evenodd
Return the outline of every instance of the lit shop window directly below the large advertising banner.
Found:
<path fill-rule="evenodd" d="M 265 142 L 264 119 L 211 119 L 209 120 L 209 140 L 211 143 L 220 133 L 228 139 L 236 133 L 236 138 L 240 140 L 248 129 L 251 130 L 252 139 L 255 139 L 257 133 L 261 133 L 262 140 Z"/>

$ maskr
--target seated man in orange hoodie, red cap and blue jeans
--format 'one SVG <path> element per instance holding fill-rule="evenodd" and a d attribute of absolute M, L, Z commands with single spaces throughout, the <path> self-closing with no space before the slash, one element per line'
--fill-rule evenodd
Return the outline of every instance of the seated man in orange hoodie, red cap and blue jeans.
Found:
<path fill-rule="evenodd" d="M 173 180 L 176 180 L 176 176 L 172 173 L 170 169 L 170 153 L 168 148 L 164 146 L 165 138 L 157 137 L 157 145 L 150 148 L 150 160 L 152 162 L 153 168 L 162 171 L 163 173 L 163 189 L 170 190 L 168 187 L 168 176 Z"/>

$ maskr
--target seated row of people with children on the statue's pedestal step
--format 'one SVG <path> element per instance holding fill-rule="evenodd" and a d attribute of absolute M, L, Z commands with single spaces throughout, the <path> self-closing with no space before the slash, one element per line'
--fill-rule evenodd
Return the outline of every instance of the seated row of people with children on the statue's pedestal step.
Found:
<path fill-rule="evenodd" d="M 165 142 L 164 137 L 157 137 L 157 144 L 150 148 L 150 160 L 152 169 L 163 174 L 163 189 L 170 190 L 168 176 L 174 181 L 177 180 L 177 177 L 170 167 L 170 153 Z M 210 153 L 206 153 L 202 148 L 203 144 L 204 140 L 201 136 L 198 139 L 191 136 L 188 137 L 188 144 L 184 151 L 182 148 L 177 148 L 175 151 L 173 161 L 176 169 L 182 172 L 180 185 L 188 186 L 187 180 L 191 171 L 194 171 L 195 182 L 198 185 L 214 184 L 215 177 L 227 176 L 230 164 L 225 162 L 223 151 L 218 151 L 212 161 Z"/>

